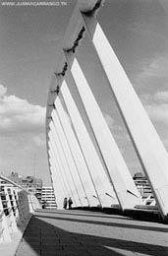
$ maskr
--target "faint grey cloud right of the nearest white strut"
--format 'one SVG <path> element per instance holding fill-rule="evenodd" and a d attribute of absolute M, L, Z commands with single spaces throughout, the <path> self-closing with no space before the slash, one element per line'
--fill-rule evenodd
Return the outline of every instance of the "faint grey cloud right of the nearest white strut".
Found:
<path fill-rule="evenodd" d="M 157 56 L 148 64 L 143 62 L 142 72 L 136 83 L 141 88 L 140 99 L 151 120 L 160 125 L 159 130 L 168 125 L 168 58 Z M 164 128 L 163 128 L 164 125 Z"/>

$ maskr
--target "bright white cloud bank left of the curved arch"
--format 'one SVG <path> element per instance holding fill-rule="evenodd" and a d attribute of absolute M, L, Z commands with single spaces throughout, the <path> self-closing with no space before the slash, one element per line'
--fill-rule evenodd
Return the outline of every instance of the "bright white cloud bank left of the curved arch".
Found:
<path fill-rule="evenodd" d="M 8 96 L 7 88 L 0 85 L 1 146 L 19 148 L 25 152 L 45 145 L 45 107 L 33 105 L 18 96 Z"/>

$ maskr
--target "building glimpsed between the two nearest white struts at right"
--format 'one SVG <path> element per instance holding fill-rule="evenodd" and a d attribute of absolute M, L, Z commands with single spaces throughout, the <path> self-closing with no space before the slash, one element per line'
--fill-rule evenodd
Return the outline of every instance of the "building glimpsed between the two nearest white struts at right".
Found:
<path fill-rule="evenodd" d="M 142 199 L 146 199 L 149 196 L 153 196 L 150 184 L 148 183 L 148 180 L 141 172 L 137 172 L 134 175 L 133 179 L 136 183 L 136 186 L 140 192 Z"/>

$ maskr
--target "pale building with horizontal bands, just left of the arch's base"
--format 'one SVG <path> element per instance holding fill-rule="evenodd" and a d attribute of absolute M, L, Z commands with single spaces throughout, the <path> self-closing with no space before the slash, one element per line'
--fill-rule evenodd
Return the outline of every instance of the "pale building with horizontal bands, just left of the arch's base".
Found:
<path fill-rule="evenodd" d="M 41 203 L 45 209 L 54 210 L 57 208 L 54 190 L 51 186 L 42 187 Z"/>

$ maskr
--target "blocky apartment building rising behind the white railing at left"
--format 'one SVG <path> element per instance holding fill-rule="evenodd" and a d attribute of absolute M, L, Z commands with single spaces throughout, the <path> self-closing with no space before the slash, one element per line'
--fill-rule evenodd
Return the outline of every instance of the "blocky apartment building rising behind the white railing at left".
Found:
<path fill-rule="evenodd" d="M 38 201 L 41 202 L 42 180 L 40 178 L 33 176 L 23 177 L 18 172 L 12 171 L 9 179 L 22 186 L 29 193 L 35 195 Z"/>

